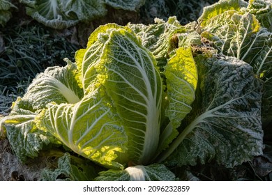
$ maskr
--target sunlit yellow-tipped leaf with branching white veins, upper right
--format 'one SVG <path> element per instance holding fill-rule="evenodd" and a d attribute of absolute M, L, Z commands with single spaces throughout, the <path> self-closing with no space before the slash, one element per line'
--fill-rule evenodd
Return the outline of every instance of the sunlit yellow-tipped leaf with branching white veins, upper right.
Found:
<path fill-rule="evenodd" d="M 234 56 L 244 60 L 248 54 L 254 36 L 261 26 L 254 15 L 250 13 L 240 14 L 227 11 L 211 18 L 209 24 L 204 27 L 202 36 L 215 42 L 216 49 L 227 56 Z"/>

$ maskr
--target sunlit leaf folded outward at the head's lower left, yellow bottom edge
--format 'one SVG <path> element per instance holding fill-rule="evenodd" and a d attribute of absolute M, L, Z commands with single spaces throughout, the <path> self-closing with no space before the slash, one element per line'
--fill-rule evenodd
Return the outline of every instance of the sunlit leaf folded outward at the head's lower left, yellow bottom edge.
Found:
<path fill-rule="evenodd" d="M 50 132 L 75 153 L 111 168 L 116 153 L 126 151 L 127 137 L 121 119 L 100 88 L 76 104 L 47 104 L 36 118 L 40 130 Z"/>

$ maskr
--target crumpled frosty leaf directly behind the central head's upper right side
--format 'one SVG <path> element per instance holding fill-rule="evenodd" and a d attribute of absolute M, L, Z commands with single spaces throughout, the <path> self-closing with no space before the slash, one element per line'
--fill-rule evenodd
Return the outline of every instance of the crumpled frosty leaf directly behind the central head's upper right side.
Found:
<path fill-rule="evenodd" d="M 167 63 L 168 53 L 178 47 L 179 41 L 171 38 L 176 33 L 185 33 L 186 30 L 176 17 L 169 17 L 168 21 L 156 19 L 155 24 L 128 24 L 142 40 L 144 47 L 149 49 L 163 68 Z"/>

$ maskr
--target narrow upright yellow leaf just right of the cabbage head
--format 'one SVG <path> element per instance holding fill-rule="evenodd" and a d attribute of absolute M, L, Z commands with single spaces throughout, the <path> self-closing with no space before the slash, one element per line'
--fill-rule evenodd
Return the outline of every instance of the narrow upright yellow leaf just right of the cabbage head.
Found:
<path fill-rule="evenodd" d="M 191 104 L 195 100 L 197 88 L 197 66 L 192 57 L 190 47 L 179 47 L 172 56 L 164 72 L 166 78 L 165 116 L 169 118 L 169 125 L 160 135 L 160 148 L 167 148 L 169 143 L 179 134 L 176 130 L 181 120 L 192 110 Z"/>

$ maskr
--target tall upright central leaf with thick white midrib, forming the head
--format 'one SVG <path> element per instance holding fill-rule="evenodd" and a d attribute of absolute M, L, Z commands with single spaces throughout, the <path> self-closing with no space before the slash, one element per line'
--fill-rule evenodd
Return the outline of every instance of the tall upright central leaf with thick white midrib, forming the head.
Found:
<path fill-rule="evenodd" d="M 98 82 L 123 121 L 128 134 L 128 159 L 146 164 L 155 155 L 160 135 L 161 79 L 153 55 L 125 29 L 104 34 Z"/>

